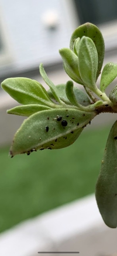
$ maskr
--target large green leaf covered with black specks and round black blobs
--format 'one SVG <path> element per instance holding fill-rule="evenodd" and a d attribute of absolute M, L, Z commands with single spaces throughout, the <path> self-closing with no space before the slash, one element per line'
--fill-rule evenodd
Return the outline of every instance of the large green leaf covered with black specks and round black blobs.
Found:
<path fill-rule="evenodd" d="M 37 149 L 60 149 L 70 146 L 95 113 L 75 109 L 44 110 L 27 118 L 13 138 L 10 155 Z"/>

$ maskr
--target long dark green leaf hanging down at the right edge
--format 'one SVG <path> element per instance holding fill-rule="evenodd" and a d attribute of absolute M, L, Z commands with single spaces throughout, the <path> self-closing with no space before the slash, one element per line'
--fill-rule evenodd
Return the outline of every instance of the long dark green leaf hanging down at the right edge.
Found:
<path fill-rule="evenodd" d="M 95 196 L 105 224 L 117 227 L 117 121 L 113 124 L 106 142 Z"/>

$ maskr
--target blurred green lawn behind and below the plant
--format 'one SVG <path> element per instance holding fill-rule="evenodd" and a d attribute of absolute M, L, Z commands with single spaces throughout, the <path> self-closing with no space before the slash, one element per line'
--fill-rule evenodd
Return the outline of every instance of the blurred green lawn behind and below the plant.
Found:
<path fill-rule="evenodd" d="M 0 232 L 94 193 L 109 129 L 84 130 L 66 149 L 8 157 L 0 149 Z"/>

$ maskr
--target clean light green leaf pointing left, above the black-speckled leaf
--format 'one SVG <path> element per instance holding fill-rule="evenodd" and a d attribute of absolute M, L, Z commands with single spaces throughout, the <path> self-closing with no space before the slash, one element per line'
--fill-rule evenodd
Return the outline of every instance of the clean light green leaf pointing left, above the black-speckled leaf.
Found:
<path fill-rule="evenodd" d="M 53 106 L 42 84 L 24 77 L 5 79 L 1 87 L 20 104 L 42 104 Z"/>

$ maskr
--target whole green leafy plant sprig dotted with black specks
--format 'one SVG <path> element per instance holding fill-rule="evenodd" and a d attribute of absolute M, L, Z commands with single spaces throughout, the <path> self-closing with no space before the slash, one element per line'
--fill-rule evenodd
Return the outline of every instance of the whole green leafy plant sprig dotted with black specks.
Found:
<path fill-rule="evenodd" d="M 11 157 L 20 153 L 29 155 L 37 149 L 70 146 L 95 116 L 104 112 L 117 113 L 117 86 L 109 96 L 105 93 L 117 76 L 117 64 L 107 63 L 101 73 L 104 52 L 102 34 L 90 23 L 73 32 L 70 49 L 60 50 L 64 70 L 84 87 L 86 93 L 75 87 L 72 80 L 54 86 L 42 64 L 40 74 L 50 87 L 49 91 L 29 78 L 8 78 L 2 82 L 2 88 L 22 104 L 7 112 L 28 117 L 13 138 Z M 99 74 L 100 88 L 96 84 Z M 116 156 L 117 122 L 109 133 L 95 192 L 102 218 L 111 228 L 117 227 Z"/>

